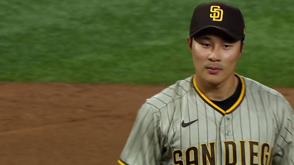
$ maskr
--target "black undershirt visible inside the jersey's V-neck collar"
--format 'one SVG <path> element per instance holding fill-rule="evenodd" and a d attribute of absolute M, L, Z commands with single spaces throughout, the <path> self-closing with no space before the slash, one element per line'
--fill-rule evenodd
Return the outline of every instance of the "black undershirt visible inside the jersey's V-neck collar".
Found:
<path fill-rule="evenodd" d="M 236 76 L 238 78 L 238 86 L 236 91 L 234 92 L 233 95 L 231 95 L 229 98 L 223 100 L 223 101 L 215 101 L 215 100 L 211 100 L 215 105 L 217 105 L 218 107 L 220 107 L 223 110 L 228 110 L 230 107 L 232 107 L 232 105 L 235 104 L 235 102 L 238 100 L 238 98 L 240 97 L 241 94 L 241 90 L 242 90 L 242 83 L 241 80 L 238 76 Z"/>

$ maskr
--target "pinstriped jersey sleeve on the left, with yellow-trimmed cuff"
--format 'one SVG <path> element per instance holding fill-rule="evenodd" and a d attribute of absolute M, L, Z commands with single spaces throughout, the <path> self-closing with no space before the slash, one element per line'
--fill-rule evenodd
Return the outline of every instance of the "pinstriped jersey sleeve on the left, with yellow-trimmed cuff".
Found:
<path fill-rule="evenodd" d="M 148 103 L 138 111 L 135 123 L 118 163 L 121 165 L 156 165 L 161 162 L 163 136 L 160 117 Z"/>

